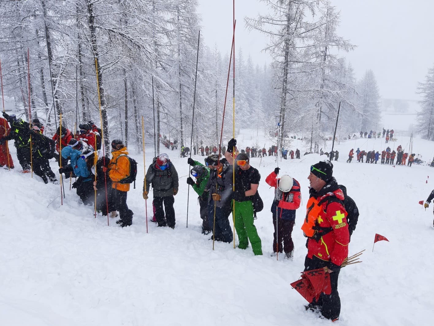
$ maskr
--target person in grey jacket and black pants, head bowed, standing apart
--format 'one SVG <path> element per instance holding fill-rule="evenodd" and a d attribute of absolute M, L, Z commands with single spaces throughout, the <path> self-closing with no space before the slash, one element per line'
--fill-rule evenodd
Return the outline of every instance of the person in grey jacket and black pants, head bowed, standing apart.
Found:
<path fill-rule="evenodd" d="M 154 157 L 146 172 L 145 180 L 143 181 L 143 199 L 148 199 L 149 187 L 152 184 L 155 219 L 158 226 L 169 226 L 174 229 L 176 219 L 173 204 L 175 202 L 174 196 L 179 189 L 179 178 L 178 172 L 166 153 Z"/>

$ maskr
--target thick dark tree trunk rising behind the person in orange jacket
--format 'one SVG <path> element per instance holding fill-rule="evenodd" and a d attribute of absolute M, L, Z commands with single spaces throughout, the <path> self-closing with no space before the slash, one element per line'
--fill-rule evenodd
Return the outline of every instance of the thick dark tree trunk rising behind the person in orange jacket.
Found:
<path fill-rule="evenodd" d="M 89 31 L 90 31 L 90 43 L 92 47 L 92 53 L 93 58 L 96 62 L 96 67 L 98 71 L 98 85 L 99 85 L 99 96 L 100 96 L 100 103 L 101 103 L 101 116 L 102 116 L 102 136 L 104 138 L 104 145 L 105 145 L 105 154 L 110 153 L 110 146 L 109 146 L 109 120 L 107 116 L 107 108 L 105 107 L 105 97 L 104 97 L 104 83 L 102 79 L 102 71 L 99 64 L 99 52 L 98 52 L 98 44 L 96 39 L 96 32 L 95 32 L 95 16 L 93 15 L 93 7 L 92 4 L 87 0 L 87 13 L 88 13 L 88 19 L 89 19 Z"/>

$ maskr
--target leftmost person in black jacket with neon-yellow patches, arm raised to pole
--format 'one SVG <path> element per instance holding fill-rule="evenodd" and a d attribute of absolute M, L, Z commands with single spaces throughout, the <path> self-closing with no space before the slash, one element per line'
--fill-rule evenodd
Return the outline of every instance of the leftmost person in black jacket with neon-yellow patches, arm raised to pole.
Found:
<path fill-rule="evenodd" d="M 10 116 L 3 112 L 4 118 L 10 123 L 10 133 L 1 140 L 15 140 L 16 157 L 23 168 L 23 173 L 30 172 L 30 125 L 23 119 L 16 120 L 15 114 Z"/>

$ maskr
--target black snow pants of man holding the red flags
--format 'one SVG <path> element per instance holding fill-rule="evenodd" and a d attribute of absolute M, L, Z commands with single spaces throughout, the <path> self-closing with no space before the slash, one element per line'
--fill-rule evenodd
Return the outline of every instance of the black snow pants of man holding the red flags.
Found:
<path fill-rule="evenodd" d="M 322 259 L 313 256 L 312 259 L 306 256 L 304 261 L 304 270 L 318 269 L 325 266 L 328 266 L 329 262 L 326 262 Z M 336 319 L 339 318 L 339 314 L 341 313 L 341 298 L 339 297 L 338 292 L 338 278 L 340 271 L 334 271 L 330 273 L 330 285 L 332 287 L 332 293 L 330 295 L 326 295 L 321 293 L 318 301 L 313 299 L 312 303 L 309 306 L 318 307 L 321 310 L 322 316 L 327 319 Z"/>

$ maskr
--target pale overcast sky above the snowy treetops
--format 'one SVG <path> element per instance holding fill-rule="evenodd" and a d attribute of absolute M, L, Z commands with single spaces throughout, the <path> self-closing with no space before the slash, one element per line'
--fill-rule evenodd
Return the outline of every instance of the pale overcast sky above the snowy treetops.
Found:
<path fill-rule="evenodd" d="M 230 52 L 232 41 L 232 0 L 198 0 L 205 43 L 217 43 L 222 53 Z M 418 100 L 419 81 L 434 66 L 434 1 L 413 0 L 332 0 L 341 11 L 339 35 L 358 47 L 345 57 L 356 77 L 372 69 L 383 98 Z M 255 63 L 270 63 L 261 53 L 265 37 L 245 29 L 244 17 L 256 17 L 266 10 L 258 0 L 236 0 L 235 46 L 250 53 Z"/>

